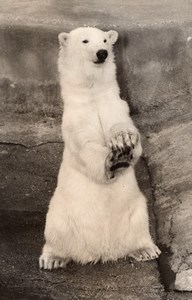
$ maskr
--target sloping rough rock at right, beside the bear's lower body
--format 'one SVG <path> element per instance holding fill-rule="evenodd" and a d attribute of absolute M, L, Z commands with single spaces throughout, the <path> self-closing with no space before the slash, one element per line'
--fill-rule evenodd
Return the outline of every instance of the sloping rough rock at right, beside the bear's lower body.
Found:
<path fill-rule="evenodd" d="M 151 134 L 146 146 L 156 199 L 158 240 L 162 249 L 169 249 L 165 259 L 177 273 L 175 288 L 186 291 L 192 290 L 191 140 L 192 123 L 189 122 Z M 163 269 L 165 262 L 160 262 Z M 167 284 L 174 288 L 171 281 Z"/>

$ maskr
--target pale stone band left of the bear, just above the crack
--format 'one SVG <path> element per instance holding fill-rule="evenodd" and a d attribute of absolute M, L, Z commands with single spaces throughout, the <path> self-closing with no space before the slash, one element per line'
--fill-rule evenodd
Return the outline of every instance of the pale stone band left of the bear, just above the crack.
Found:
<path fill-rule="evenodd" d="M 34 147 L 49 141 L 62 142 L 61 119 L 31 114 L 0 113 L 0 138 L 4 144 Z"/>

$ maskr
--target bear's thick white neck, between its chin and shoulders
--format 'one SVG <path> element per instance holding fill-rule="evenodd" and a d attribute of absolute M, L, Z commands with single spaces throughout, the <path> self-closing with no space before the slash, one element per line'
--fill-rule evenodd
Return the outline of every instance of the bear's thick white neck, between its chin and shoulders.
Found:
<path fill-rule="evenodd" d="M 62 65 L 59 66 L 62 97 L 65 104 L 89 103 L 95 100 L 95 95 L 105 97 L 119 95 L 116 80 L 116 65 L 108 61 L 104 65 L 89 67 Z M 80 99 L 81 98 L 81 99 Z"/>

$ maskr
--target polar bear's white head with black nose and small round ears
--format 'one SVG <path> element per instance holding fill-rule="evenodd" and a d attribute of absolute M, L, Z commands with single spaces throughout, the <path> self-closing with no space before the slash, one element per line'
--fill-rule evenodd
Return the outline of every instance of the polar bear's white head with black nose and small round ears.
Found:
<path fill-rule="evenodd" d="M 60 55 L 73 65 L 104 66 L 113 61 L 113 45 L 117 41 L 115 30 L 102 31 L 97 28 L 80 27 L 70 33 L 60 33 Z"/>

